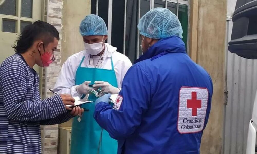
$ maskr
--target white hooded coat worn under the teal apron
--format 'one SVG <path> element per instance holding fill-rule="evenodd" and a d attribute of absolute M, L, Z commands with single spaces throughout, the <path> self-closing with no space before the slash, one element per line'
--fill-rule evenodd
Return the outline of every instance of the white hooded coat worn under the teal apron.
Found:
<path fill-rule="evenodd" d="M 116 49 L 117 49 L 116 47 L 113 47 L 108 43 L 105 43 L 105 51 L 102 56 L 103 57 L 102 68 L 110 69 L 110 70 L 112 69 L 112 65 L 111 65 L 111 57 L 112 57 L 114 71 L 115 71 L 117 83 L 118 83 L 118 88 L 121 88 L 123 78 L 127 73 L 127 70 L 132 66 L 132 63 L 127 56 L 117 52 Z M 90 67 L 89 66 L 90 55 L 86 53 L 85 50 L 70 56 L 66 60 L 66 62 L 62 65 L 60 75 L 53 89 L 55 92 L 59 94 L 70 94 L 72 97 L 82 96 L 76 91 L 75 75 L 83 56 L 85 56 L 85 58 L 81 64 L 81 67 Z"/>

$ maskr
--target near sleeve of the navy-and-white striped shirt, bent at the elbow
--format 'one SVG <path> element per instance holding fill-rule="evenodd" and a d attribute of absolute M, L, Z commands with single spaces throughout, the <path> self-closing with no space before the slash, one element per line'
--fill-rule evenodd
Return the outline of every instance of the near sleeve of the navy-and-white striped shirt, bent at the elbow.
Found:
<path fill-rule="evenodd" d="M 36 101 L 26 98 L 28 81 L 23 64 L 10 62 L 0 71 L 0 88 L 6 116 L 17 121 L 40 121 L 66 113 L 60 95 Z"/>

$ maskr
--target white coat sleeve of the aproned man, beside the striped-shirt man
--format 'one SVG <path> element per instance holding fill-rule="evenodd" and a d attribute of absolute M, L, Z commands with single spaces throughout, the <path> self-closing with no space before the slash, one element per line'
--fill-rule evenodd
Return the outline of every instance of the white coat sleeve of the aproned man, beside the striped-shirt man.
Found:
<path fill-rule="evenodd" d="M 72 69 L 72 64 L 70 59 L 67 59 L 65 63 L 63 63 L 61 72 L 58 76 L 58 79 L 54 85 L 53 91 L 59 93 L 59 94 L 69 94 L 72 97 L 82 97 L 77 91 L 76 91 L 76 85 L 75 85 L 75 74 L 76 69 Z"/>

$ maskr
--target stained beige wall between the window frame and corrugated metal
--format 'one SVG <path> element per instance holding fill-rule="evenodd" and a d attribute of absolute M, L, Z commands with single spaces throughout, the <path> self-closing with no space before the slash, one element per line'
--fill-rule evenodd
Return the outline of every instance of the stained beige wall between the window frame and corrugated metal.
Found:
<path fill-rule="evenodd" d="M 194 0 L 196 1 L 196 0 Z M 221 153 L 223 131 L 226 0 L 198 0 L 196 61 L 212 77 L 213 97 L 201 153 Z"/>

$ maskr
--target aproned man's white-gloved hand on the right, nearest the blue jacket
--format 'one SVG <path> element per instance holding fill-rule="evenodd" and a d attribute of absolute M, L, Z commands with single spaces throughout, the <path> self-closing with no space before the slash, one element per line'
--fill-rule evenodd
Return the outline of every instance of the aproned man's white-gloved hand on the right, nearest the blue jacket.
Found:
<path fill-rule="evenodd" d="M 104 93 L 110 93 L 110 94 L 118 94 L 120 92 L 120 89 L 112 86 L 111 84 L 109 84 L 109 82 L 104 82 L 104 81 L 95 81 L 93 88 L 102 88 L 101 90 Z"/>

